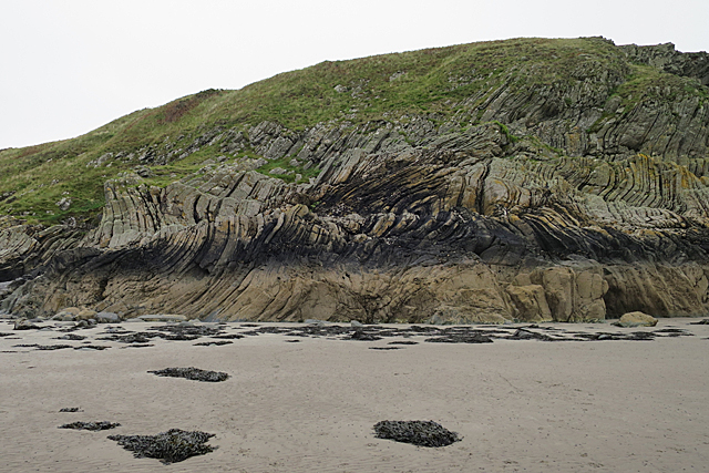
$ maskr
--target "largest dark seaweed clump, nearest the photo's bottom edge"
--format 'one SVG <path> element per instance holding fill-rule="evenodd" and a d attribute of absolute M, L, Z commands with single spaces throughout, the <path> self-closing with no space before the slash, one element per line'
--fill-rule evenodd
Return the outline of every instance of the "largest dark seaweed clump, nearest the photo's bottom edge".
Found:
<path fill-rule="evenodd" d="M 109 435 L 109 439 L 133 452 L 136 459 L 157 459 L 168 464 L 213 452 L 216 446 L 205 445 L 213 436 L 213 433 L 171 429 L 157 435 Z"/>

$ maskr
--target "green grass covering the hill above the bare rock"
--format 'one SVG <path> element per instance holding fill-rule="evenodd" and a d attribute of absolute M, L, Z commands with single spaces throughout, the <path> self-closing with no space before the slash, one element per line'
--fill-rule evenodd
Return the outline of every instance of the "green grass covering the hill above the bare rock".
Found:
<path fill-rule="evenodd" d="M 247 135 L 269 121 L 299 132 L 317 124 L 405 123 L 414 115 L 463 130 L 481 123 L 479 105 L 503 84 L 530 94 L 543 85 L 564 96 L 595 69 L 617 79 L 612 94 L 627 110 L 659 95 L 709 100 L 708 89 L 697 81 L 629 62 L 602 38 L 515 39 L 326 61 L 242 90 L 207 90 L 141 110 L 73 140 L 1 151 L 0 227 L 18 220 L 52 225 L 68 217 L 95 224 L 104 206 L 103 183 L 136 165 L 150 166 L 147 184 L 165 186 L 198 172 L 207 160 L 258 157 L 248 147 L 225 156 L 217 144 L 201 141 L 207 131 Z M 583 103 L 565 96 L 558 106 Z M 157 151 L 166 156 L 163 161 L 141 161 Z M 109 165 L 105 156 L 112 157 Z M 260 171 L 276 165 L 286 164 L 268 163 Z M 309 173 L 305 177 L 317 173 L 299 171 Z M 56 205 L 62 198 L 71 199 L 69 208 Z"/>

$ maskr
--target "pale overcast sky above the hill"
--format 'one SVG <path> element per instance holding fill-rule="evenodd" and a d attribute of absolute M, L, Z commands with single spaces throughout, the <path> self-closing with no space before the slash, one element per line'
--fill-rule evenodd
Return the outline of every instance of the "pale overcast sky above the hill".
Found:
<path fill-rule="evenodd" d="M 205 89 L 521 37 L 709 51 L 709 0 L 0 0 L 0 150 Z"/>

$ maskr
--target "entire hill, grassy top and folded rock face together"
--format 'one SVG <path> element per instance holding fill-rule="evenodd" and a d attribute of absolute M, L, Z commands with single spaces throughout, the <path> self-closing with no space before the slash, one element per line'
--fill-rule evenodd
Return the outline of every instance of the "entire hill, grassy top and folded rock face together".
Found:
<path fill-rule="evenodd" d="M 2 307 L 706 313 L 707 85 L 708 55 L 671 44 L 520 39 L 325 62 L 6 150 L 0 279 L 25 277 Z"/>

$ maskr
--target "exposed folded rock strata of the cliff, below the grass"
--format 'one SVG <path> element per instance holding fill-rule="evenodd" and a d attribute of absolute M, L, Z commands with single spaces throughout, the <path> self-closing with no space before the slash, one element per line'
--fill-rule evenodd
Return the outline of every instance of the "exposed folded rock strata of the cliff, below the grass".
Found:
<path fill-rule="evenodd" d="M 370 322 L 706 315 L 708 55 L 607 48 L 613 62 L 579 54 L 548 83 L 525 83 L 533 71 L 521 60 L 454 117 L 207 130 L 204 143 L 251 156 L 210 161 L 164 188 L 137 174 L 109 181 L 89 232 L 0 232 L 0 279 L 14 279 L 2 310 Z M 634 68 L 657 81 L 633 84 Z M 288 165 L 264 173 L 269 162 Z M 296 175 L 312 168 L 308 182 Z"/>

